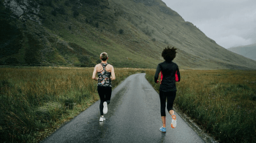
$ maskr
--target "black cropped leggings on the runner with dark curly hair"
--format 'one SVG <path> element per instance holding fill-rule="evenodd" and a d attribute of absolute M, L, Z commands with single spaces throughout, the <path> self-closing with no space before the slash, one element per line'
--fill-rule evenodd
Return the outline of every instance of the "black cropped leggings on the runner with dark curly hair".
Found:
<path fill-rule="evenodd" d="M 161 116 L 166 116 L 165 115 L 166 98 L 167 98 L 167 111 L 170 112 L 170 110 L 173 109 L 173 101 L 176 97 L 176 91 L 164 92 L 160 90 L 159 96 L 160 96 L 160 104 L 161 104 Z"/>

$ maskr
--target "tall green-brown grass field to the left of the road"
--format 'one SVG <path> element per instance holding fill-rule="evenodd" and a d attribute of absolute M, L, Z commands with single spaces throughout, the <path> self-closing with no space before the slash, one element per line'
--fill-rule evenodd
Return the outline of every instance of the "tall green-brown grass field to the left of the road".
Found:
<path fill-rule="evenodd" d="M 38 142 L 99 100 L 93 68 L 0 68 L 1 142 Z M 115 69 L 118 85 L 140 69 Z"/>

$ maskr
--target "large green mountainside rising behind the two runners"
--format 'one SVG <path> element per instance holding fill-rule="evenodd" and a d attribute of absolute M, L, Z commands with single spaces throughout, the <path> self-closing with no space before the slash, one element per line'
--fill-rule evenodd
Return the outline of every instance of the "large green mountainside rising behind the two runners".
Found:
<path fill-rule="evenodd" d="M 156 68 L 167 45 L 181 69 L 256 69 L 161 0 L 0 0 L 0 64 Z"/>

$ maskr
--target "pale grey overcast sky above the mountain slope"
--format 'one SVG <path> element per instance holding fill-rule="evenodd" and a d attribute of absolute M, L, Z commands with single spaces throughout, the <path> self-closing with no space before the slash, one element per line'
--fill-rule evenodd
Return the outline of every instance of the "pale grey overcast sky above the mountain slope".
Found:
<path fill-rule="evenodd" d="M 256 0 L 162 0 L 222 47 L 256 43 Z"/>

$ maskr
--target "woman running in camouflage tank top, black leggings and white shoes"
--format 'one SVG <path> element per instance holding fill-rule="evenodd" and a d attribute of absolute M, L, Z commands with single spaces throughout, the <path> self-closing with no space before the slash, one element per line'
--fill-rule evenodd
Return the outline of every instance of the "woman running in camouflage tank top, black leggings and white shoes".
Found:
<path fill-rule="evenodd" d="M 99 58 L 102 60 L 102 62 L 94 67 L 92 79 L 98 81 L 97 90 L 100 98 L 99 122 L 103 122 L 103 120 L 105 120 L 103 114 L 107 114 L 108 104 L 110 104 L 110 98 L 112 93 L 111 80 L 116 80 L 116 76 L 113 66 L 107 63 L 108 53 L 101 53 L 99 55 Z M 96 77 L 97 73 L 98 77 Z"/>

